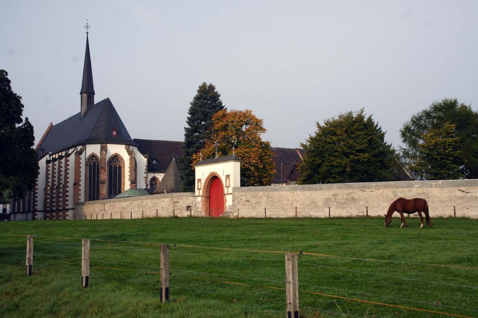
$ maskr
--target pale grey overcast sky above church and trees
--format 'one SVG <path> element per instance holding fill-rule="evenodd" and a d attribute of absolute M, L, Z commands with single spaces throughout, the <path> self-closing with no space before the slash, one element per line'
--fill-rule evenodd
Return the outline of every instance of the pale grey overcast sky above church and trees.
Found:
<path fill-rule="evenodd" d="M 95 101 L 132 138 L 182 141 L 212 83 L 252 110 L 263 140 L 297 148 L 340 113 L 371 115 L 385 141 L 443 98 L 478 110 L 478 1 L 0 0 L 0 69 L 36 143 L 80 112 L 86 22 Z"/>

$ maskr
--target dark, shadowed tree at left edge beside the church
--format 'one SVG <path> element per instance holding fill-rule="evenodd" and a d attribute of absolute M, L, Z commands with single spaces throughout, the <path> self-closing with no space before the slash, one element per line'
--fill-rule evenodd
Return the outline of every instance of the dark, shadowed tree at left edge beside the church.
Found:
<path fill-rule="evenodd" d="M 21 97 L 12 91 L 8 73 L 0 70 L 0 192 L 19 199 L 33 190 L 39 174 L 33 126 L 23 121 Z"/>

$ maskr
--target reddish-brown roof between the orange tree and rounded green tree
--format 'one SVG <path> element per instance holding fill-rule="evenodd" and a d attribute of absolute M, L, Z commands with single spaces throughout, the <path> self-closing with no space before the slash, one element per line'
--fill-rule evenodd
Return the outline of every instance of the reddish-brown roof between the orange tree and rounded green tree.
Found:
<path fill-rule="evenodd" d="M 287 180 L 297 181 L 299 179 L 299 164 L 305 151 L 301 148 L 277 148 L 271 147 L 274 152 L 274 163 L 276 165 L 276 174 L 274 183 L 285 182 Z"/>

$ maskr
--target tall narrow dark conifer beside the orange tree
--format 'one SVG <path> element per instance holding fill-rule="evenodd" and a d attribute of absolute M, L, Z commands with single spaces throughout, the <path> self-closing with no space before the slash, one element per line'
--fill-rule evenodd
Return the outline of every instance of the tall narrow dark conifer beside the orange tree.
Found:
<path fill-rule="evenodd" d="M 180 163 L 182 165 L 181 181 L 182 190 L 194 191 L 194 169 L 192 156 L 204 147 L 208 131 L 212 129 L 213 115 L 225 109 L 220 100 L 221 95 L 216 91 L 213 84 L 206 82 L 199 85 L 198 93 L 190 103 L 187 127 L 184 128 L 184 145 Z"/>

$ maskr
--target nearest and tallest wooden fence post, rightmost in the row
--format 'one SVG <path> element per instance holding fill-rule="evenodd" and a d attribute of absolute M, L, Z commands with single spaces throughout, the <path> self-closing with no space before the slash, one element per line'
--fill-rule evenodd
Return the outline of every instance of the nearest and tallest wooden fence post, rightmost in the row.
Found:
<path fill-rule="evenodd" d="M 299 318 L 299 276 L 294 253 L 285 255 L 285 295 L 287 318 Z"/>

